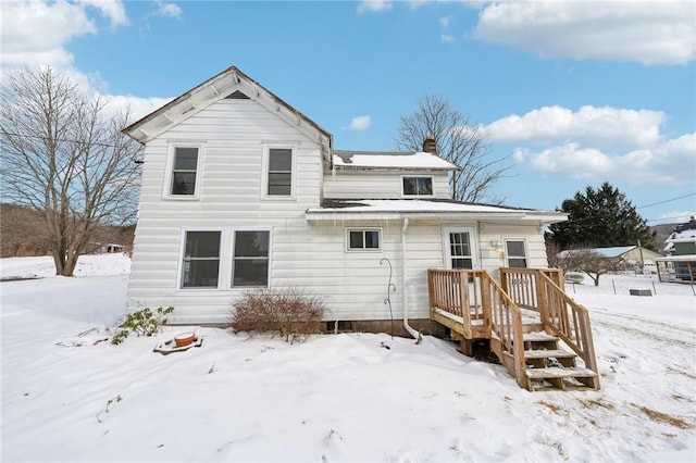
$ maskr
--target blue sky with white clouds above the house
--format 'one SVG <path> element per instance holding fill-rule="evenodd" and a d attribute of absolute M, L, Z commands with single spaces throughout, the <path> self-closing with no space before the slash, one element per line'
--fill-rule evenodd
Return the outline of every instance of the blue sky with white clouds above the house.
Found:
<path fill-rule="evenodd" d="M 335 148 L 390 150 L 399 117 L 439 93 L 486 130 L 492 157 L 510 155 L 512 176 L 496 187 L 510 205 L 552 210 L 608 180 L 651 225 L 696 214 L 693 1 L 0 9 L 3 72 L 51 65 L 138 115 L 235 65 Z"/>

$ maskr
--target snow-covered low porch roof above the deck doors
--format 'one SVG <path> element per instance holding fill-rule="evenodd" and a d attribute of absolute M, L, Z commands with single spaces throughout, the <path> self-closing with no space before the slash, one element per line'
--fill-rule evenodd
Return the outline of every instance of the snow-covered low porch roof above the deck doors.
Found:
<path fill-rule="evenodd" d="M 334 220 L 518 220 L 544 224 L 564 222 L 563 212 L 536 211 L 490 204 L 475 204 L 452 200 L 324 200 L 321 208 L 306 212 L 308 221 Z"/>

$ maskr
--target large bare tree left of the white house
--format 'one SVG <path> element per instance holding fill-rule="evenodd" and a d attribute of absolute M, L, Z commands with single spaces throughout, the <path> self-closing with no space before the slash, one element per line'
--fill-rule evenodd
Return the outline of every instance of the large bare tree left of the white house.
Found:
<path fill-rule="evenodd" d="M 121 133 L 128 113 L 49 67 L 9 74 L 0 101 L 2 197 L 42 213 L 55 274 L 72 276 L 100 224 L 135 215 L 139 146 Z"/>

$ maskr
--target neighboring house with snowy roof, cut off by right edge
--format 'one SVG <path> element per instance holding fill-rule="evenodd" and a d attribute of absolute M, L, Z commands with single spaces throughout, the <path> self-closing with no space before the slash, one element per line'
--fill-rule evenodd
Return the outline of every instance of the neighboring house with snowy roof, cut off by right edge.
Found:
<path fill-rule="evenodd" d="M 696 280 L 696 216 L 678 225 L 664 240 L 669 255 L 658 260 L 660 280 Z"/>

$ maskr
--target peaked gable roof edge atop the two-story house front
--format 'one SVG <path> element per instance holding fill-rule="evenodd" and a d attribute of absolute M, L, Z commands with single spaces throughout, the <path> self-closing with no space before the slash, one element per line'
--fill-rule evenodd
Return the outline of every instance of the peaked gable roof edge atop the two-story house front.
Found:
<path fill-rule="evenodd" d="M 327 161 L 332 162 L 330 153 L 333 136 L 328 132 L 235 66 L 228 67 L 130 124 L 123 129 L 123 133 L 140 143 L 147 143 L 219 100 L 233 95 L 233 99 L 243 99 L 238 92 L 257 101 L 269 111 L 275 112 L 288 124 L 314 139 L 323 147 L 323 154 Z"/>

